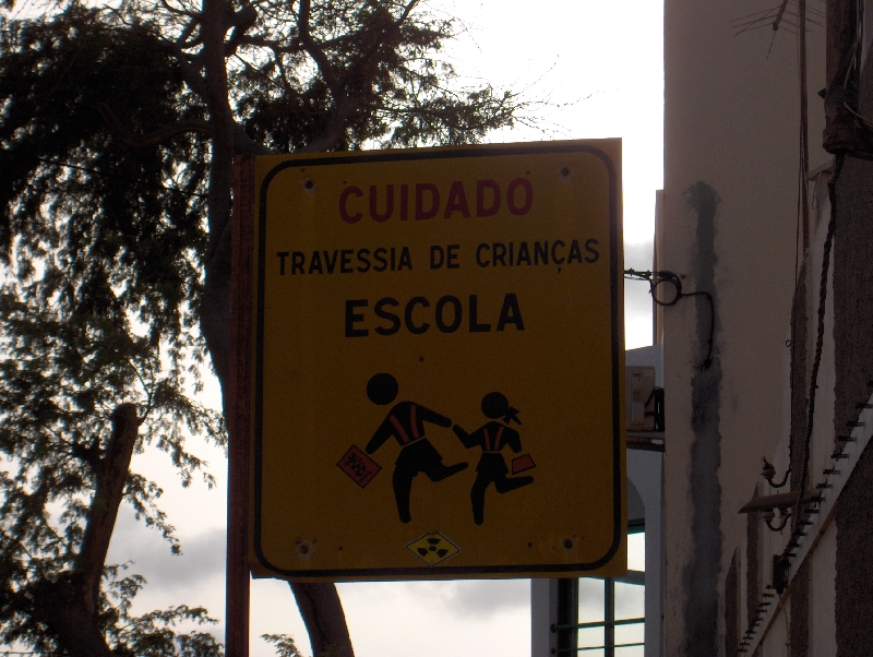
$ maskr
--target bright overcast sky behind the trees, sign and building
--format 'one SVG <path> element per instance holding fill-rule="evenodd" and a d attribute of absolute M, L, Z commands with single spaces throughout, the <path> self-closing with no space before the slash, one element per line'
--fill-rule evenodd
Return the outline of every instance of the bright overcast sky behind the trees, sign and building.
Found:
<path fill-rule="evenodd" d="M 655 190 L 662 184 L 662 3 L 461 0 L 430 3 L 458 16 L 467 29 L 446 55 L 470 82 L 547 100 L 533 117 L 492 135 L 492 142 L 624 139 L 625 264 L 651 266 Z M 645 284 L 626 287 L 629 348 L 650 344 Z M 215 386 L 212 385 L 213 398 Z M 182 490 L 166 455 L 134 457 L 133 467 L 159 481 L 163 507 L 178 528 L 183 556 L 171 557 L 158 534 L 122 510 L 110 563 L 132 561 L 148 585 L 136 609 L 188 604 L 207 607 L 224 637 L 224 453 L 199 449 L 220 485 Z M 168 477 L 169 473 L 169 477 Z M 342 584 L 340 596 L 357 657 L 523 657 L 530 654 L 528 581 Z M 291 634 L 304 655 L 309 641 L 288 586 L 252 586 L 252 657 L 274 655 L 259 637 Z"/>

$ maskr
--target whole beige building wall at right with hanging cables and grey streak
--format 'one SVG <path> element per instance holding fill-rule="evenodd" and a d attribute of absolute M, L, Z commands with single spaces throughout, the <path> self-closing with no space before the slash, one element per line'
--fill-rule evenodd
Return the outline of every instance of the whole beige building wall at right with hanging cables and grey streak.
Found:
<path fill-rule="evenodd" d="M 757 656 L 849 657 L 873 645 L 873 2 L 826 7 L 837 17 L 865 11 L 862 118 L 856 151 L 833 164 L 841 158 L 818 147 L 814 95 L 825 27 L 811 24 L 812 212 L 809 249 L 798 250 L 794 35 L 732 36 L 731 20 L 762 2 L 666 1 L 660 266 L 684 275 L 685 291 L 710 292 L 717 309 L 708 368 L 706 304 L 663 311 L 668 655 L 732 657 L 737 625 L 739 648 Z M 760 479 L 761 455 L 777 478 L 791 468 L 785 488 Z M 750 492 L 786 491 L 818 498 L 781 531 L 761 513 L 737 514 Z"/>

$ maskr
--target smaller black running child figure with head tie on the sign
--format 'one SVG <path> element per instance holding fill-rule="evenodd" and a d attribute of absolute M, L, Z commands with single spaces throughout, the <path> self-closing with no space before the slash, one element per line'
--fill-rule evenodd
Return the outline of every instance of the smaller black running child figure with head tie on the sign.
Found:
<path fill-rule="evenodd" d="M 510 421 L 522 423 L 518 420 L 518 410 L 510 406 L 505 395 L 494 392 L 482 397 L 482 413 L 491 421 L 473 433 L 467 433 L 457 425 L 452 427 L 465 447 L 482 447 L 482 455 L 476 466 L 476 481 L 470 490 L 473 519 L 477 525 L 485 522 L 485 491 L 491 483 L 499 493 L 505 493 L 534 481 L 534 477 L 507 477 L 510 470 L 500 453 L 506 445 L 516 454 L 522 451 L 522 437 L 509 427 Z M 503 422 L 497 421 L 498 418 Z"/>

